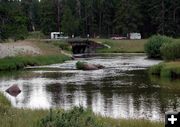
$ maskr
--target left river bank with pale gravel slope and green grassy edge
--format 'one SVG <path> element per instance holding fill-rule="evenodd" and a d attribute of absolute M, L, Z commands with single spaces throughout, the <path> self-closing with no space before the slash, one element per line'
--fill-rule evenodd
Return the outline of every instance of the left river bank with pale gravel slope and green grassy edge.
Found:
<path fill-rule="evenodd" d="M 24 40 L 0 44 L 0 71 L 63 63 L 71 57 L 53 43 Z"/>

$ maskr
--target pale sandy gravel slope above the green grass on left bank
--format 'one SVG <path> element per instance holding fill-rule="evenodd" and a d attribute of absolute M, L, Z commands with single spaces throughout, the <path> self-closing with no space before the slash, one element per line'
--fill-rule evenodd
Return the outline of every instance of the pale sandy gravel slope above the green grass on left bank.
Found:
<path fill-rule="evenodd" d="M 29 41 L 0 43 L 0 58 L 16 55 L 40 55 L 41 50 Z"/>

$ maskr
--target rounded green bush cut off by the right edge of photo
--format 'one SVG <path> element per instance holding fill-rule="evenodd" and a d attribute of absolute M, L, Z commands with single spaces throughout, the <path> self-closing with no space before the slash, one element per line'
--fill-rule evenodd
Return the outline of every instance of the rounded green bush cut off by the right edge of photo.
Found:
<path fill-rule="evenodd" d="M 163 44 L 161 54 L 165 60 L 180 59 L 180 42 Z"/>

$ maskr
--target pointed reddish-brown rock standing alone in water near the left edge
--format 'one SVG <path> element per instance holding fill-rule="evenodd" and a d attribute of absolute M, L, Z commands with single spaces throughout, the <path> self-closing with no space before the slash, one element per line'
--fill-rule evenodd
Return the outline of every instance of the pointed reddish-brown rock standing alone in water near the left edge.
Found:
<path fill-rule="evenodd" d="M 19 89 L 18 85 L 12 85 L 6 90 L 7 93 L 9 93 L 11 96 L 16 97 L 21 93 L 21 90 Z"/>

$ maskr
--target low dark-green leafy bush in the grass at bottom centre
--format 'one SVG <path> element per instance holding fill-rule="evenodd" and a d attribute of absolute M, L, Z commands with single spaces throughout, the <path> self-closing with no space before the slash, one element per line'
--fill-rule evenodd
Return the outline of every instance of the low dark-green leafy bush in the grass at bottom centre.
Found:
<path fill-rule="evenodd" d="M 105 127 L 105 124 L 91 110 L 75 107 L 66 112 L 50 110 L 49 115 L 41 119 L 40 127 Z"/>

